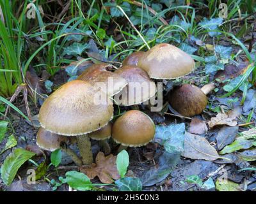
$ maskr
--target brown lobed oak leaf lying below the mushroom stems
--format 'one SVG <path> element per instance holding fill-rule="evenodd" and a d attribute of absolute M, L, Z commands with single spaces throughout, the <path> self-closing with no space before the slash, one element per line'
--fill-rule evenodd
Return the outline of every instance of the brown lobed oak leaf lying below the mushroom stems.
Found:
<path fill-rule="evenodd" d="M 103 152 L 99 152 L 95 159 L 95 163 L 90 166 L 83 166 L 80 171 L 85 173 L 90 179 L 99 177 L 100 182 L 104 184 L 111 184 L 113 179 L 120 179 L 120 175 L 116 168 L 116 156 L 109 154 L 104 156 Z"/>

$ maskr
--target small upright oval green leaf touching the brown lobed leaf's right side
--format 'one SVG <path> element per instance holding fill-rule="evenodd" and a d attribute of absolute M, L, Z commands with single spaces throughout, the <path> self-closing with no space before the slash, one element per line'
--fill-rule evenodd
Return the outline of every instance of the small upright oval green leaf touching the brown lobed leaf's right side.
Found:
<path fill-rule="evenodd" d="M 129 154 L 122 150 L 116 157 L 116 168 L 121 178 L 124 178 L 129 166 Z"/>

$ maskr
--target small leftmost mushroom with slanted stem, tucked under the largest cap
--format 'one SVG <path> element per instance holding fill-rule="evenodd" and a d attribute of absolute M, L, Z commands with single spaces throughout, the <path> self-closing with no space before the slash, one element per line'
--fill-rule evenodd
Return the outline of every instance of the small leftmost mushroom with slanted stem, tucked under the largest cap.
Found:
<path fill-rule="evenodd" d="M 77 166 L 82 165 L 81 159 L 76 155 L 76 153 L 67 146 L 68 137 L 57 135 L 55 133 L 51 133 L 44 128 L 39 128 L 36 135 L 36 144 L 41 149 L 53 152 L 56 149 L 61 149 L 68 154 L 77 164 Z"/>

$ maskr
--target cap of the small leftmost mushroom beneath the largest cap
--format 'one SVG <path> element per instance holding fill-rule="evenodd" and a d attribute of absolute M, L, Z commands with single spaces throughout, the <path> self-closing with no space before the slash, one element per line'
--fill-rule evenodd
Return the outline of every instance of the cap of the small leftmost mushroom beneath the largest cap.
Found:
<path fill-rule="evenodd" d="M 45 149 L 53 152 L 56 149 L 60 149 L 61 142 L 67 142 L 67 136 L 57 135 L 55 133 L 51 133 L 44 128 L 39 128 L 36 135 L 36 144 L 41 149 Z"/>

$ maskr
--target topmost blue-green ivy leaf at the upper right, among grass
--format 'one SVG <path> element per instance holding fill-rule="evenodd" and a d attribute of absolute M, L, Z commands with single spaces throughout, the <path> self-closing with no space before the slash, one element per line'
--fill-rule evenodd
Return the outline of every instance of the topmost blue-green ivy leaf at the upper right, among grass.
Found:
<path fill-rule="evenodd" d="M 210 20 L 207 18 L 204 18 L 202 22 L 199 23 L 200 26 L 202 26 L 205 30 L 209 31 L 209 36 L 217 36 L 220 34 L 220 32 L 212 31 L 212 30 L 218 30 L 218 26 L 222 24 L 223 18 L 211 18 Z"/>

